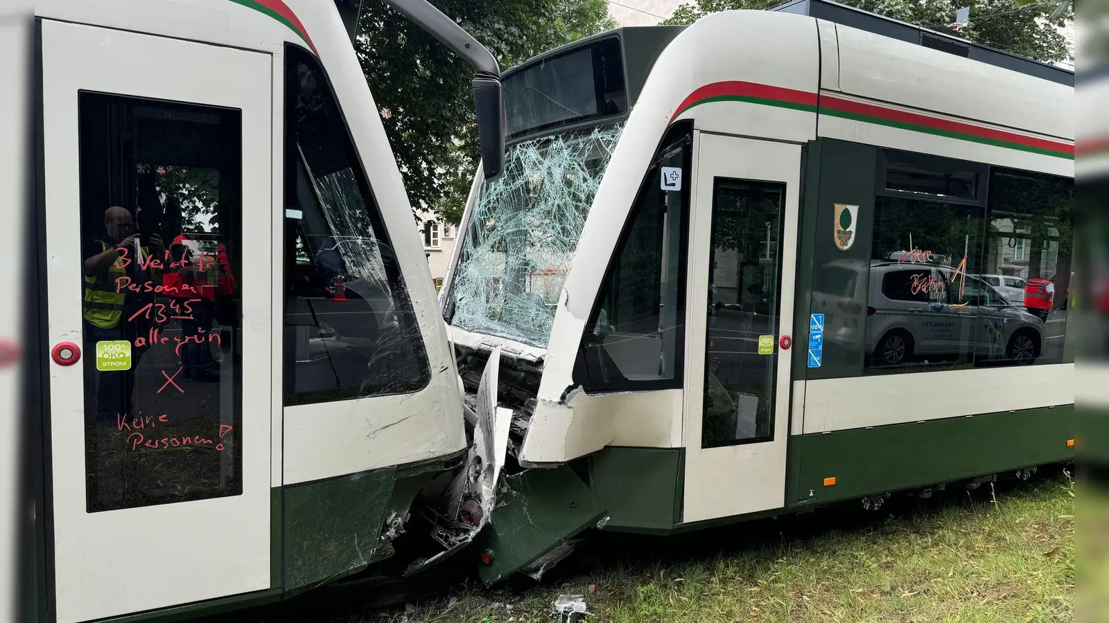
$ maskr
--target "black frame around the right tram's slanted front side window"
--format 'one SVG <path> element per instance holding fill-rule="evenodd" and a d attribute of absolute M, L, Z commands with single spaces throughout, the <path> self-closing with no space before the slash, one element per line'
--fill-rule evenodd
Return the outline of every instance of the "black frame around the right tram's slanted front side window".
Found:
<path fill-rule="evenodd" d="M 678 255 L 678 305 L 676 314 L 682 318 L 682 321 L 674 328 L 676 335 L 674 337 L 674 378 L 672 379 L 652 379 L 652 380 L 630 380 L 622 379 L 611 382 L 594 382 L 591 375 L 588 371 L 588 356 L 586 355 L 584 338 L 586 335 L 592 333 L 592 328 L 597 326 L 597 320 L 600 317 L 601 309 L 604 306 L 604 296 L 607 292 L 608 284 L 611 283 L 613 274 L 619 267 L 619 261 L 621 251 L 627 244 L 628 239 L 631 237 L 631 233 L 635 221 L 639 216 L 639 211 L 635 210 L 639 205 L 640 200 L 643 194 L 651 187 L 652 184 L 659 182 L 659 156 L 660 152 L 676 143 L 681 139 L 680 134 L 684 134 L 685 145 L 684 154 L 682 160 L 682 171 L 684 182 L 682 184 L 682 206 L 683 206 L 683 217 L 681 225 L 680 242 L 679 242 L 679 255 Z M 627 218 L 624 218 L 623 227 L 620 231 L 620 237 L 617 238 L 617 244 L 613 246 L 612 254 L 609 256 L 608 265 L 604 268 L 604 276 L 601 278 L 600 288 L 593 298 L 593 305 L 589 313 L 589 318 L 586 321 L 584 330 L 582 335 L 578 338 L 578 350 L 573 364 L 573 382 L 574 385 L 581 386 L 582 389 L 588 395 L 603 395 L 603 394 L 617 394 L 622 391 L 658 391 L 663 389 L 682 389 L 685 386 L 685 326 L 688 321 L 688 289 L 689 289 L 689 256 L 690 256 L 690 219 L 693 215 L 693 206 L 690 205 L 691 198 L 691 187 L 693 185 L 692 180 L 693 173 L 693 120 L 682 120 L 672 123 L 667 131 L 663 133 L 662 137 L 659 140 L 658 145 L 655 145 L 654 153 L 651 155 L 651 162 L 648 165 L 647 171 L 643 173 L 643 177 L 640 181 L 639 188 L 635 191 L 635 198 L 632 200 Z"/>

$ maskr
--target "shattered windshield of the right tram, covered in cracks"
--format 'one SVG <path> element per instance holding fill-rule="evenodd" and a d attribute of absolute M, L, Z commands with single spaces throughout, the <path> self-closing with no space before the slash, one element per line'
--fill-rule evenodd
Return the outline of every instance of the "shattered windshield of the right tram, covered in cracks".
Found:
<path fill-rule="evenodd" d="M 509 147 L 481 187 L 447 300 L 450 324 L 538 347 L 550 338 L 562 283 L 622 124 Z"/>

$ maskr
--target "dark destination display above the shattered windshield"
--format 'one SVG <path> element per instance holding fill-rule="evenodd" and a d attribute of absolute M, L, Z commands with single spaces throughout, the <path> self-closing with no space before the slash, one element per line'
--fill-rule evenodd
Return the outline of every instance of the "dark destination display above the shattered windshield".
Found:
<path fill-rule="evenodd" d="M 536 61 L 509 73 L 503 85 L 508 139 L 628 109 L 615 37 Z"/>

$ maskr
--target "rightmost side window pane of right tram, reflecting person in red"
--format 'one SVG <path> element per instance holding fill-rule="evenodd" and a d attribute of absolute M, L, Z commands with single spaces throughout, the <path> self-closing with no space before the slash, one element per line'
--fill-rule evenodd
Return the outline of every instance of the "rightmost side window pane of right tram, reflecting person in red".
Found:
<path fill-rule="evenodd" d="M 993 357 L 988 359 L 1062 362 L 1074 196 L 1075 182 L 1068 177 L 1001 167 L 990 172 L 983 272 L 1007 276 L 1004 287 L 996 290 L 1001 300 L 991 306 Z M 1018 330 L 1005 330 L 1015 323 Z"/>

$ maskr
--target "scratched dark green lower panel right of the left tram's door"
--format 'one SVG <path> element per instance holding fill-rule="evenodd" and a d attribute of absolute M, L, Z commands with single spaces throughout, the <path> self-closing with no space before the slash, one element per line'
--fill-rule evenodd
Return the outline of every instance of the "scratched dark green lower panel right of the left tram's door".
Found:
<path fill-rule="evenodd" d="M 390 467 L 285 488 L 285 591 L 333 581 L 369 564 L 395 471 Z"/>

